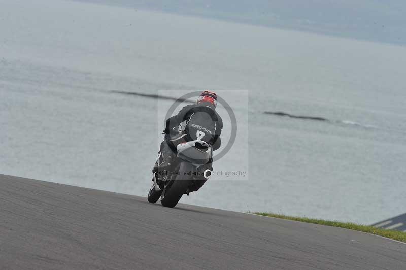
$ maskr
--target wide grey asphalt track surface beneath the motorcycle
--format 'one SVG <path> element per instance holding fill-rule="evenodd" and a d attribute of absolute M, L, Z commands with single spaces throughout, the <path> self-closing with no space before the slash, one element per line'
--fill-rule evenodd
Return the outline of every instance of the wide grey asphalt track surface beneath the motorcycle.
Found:
<path fill-rule="evenodd" d="M 2 270 L 406 269 L 406 244 L 362 232 L 6 175 L 0 210 Z"/>

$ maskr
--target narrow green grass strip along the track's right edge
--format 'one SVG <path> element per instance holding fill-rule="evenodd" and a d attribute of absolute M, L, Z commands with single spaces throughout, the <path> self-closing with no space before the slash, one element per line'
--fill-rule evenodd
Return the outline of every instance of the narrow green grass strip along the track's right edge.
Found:
<path fill-rule="evenodd" d="M 273 213 L 254 212 L 252 214 L 267 216 L 267 217 L 274 217 L 274 218 L 281 218 L 281 219 L 288 219 L 288 220 L 294 220 L 294 221 L 300 221 L 300 222 L 307 222 L 307 223 L 313 223 L 313 224 L 320 224 L 320 225 L 331 226 L 331 227 L 339 227 L 339 228 L 345 228 L 345 229 L 350 229 L 350 230 L 358 230 L 358 231 L 376 234 L 376 235 L 380 235 L 382 237 L 386 237 L 386 238 L 390 238 L 393 240 L 397 240 L 397 241 L 406 243 L 406 232 L 402 232 L 402 231 L 398 231 L 398 230 L 386 230 L 386 229 L 376 228 L 373 226 L 355 224 L 355 223 L 351 223 L 351 222 L 329 221 L 329 220 L 306 218 L 306 217 L 304 217 L 304 218 L 303 217 L 293 217 L 293 216 L 285 216 L 285 215 L 273 214 Z"/>

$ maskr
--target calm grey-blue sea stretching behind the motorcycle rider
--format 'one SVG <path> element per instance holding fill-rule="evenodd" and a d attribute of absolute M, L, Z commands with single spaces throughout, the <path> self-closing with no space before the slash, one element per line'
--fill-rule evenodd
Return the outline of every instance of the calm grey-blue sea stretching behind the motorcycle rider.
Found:
<path fill-rule="evenodd" d="M 68 1 L 0 5 L 0 173 L 146 196 L 172 102 L 111 91 L 248 89 L 224 92 L 241 133 L 215 164 L 247 178 L 213 177 L 183 203 L 365 224 L 406 212 L 405 47 Z"/>

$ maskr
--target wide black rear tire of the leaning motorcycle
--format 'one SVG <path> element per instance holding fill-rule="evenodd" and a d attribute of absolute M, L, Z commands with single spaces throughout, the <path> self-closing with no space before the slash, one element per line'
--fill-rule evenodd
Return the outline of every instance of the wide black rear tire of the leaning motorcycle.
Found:
<path fill-rule="evenodd" d="M 193 172 L 194 166 L 187 162 L 182 162 L 179 166 L 179 174 L 173 176 L 172 184 L 168 185 L 162 192 L 161 205 L 164 207 L 175 207 L 191 183 L 192 176 L 184 172 Z"/>

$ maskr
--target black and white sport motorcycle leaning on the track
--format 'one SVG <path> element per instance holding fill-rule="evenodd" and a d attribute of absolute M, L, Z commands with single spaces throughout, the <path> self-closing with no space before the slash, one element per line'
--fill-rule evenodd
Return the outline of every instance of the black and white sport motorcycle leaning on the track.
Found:
<path fill-rule="evenodd" d="M 210 178 L 213 172 L 207 163 L 212 157 L 212 152 L 211 145 L 201 140 L 179 144 L 177 156 L 171 168 L 153 173 L 153 184 L 148 193 L 148 201 L 155 204 L 160 199 L 162 206 L 175 207 L 184 194 L 189 195 L 189 192 L 196 190 L 198 181 L 206 181 Z M 155 166 L 161 162 L 162 153 L 159 152 Z"/>

